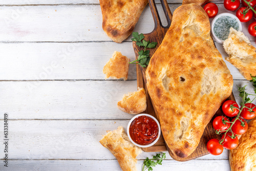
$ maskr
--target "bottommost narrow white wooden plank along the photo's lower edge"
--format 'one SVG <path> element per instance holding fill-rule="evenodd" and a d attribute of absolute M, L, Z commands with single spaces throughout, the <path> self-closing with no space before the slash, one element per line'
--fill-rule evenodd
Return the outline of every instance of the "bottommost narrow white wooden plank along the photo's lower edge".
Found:
<path fill-rule="evenodd" d="M 121 171 L 116 160 L 11 160 L 8 168 L 0 165 L 0 169 L 12 171 L 26 170 L 106 170 Z M 137 169 L 141 170 L 143 161 L 137 162 Z M 177 170 L 177 171 L 229 171 L 228 160 L 192 160 L 187 162 L 177 162 L 174 160 L 164 160 L 162 165 L 157 165 L 154 170 Z"/>

